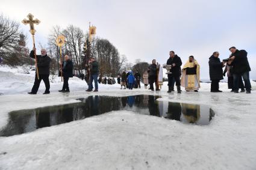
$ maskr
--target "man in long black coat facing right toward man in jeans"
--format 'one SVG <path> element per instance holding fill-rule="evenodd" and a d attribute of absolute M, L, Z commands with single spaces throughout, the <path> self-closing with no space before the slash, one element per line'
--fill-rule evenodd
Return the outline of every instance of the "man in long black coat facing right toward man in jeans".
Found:
<path fill-rule="evenodd" d="M 225 62 L 220 62 L 219 52 L 214 52 L 209 58 L 209 73 L 211 80 L 211 92 L 222 92 L 219 90 L 219 81 L 223 79 L 223 70 Z"/>

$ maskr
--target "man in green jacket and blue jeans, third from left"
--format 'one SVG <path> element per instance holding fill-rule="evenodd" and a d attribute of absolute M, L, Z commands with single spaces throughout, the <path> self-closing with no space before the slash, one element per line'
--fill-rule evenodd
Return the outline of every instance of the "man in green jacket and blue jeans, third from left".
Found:
<path fill-rule="evenodd" d="M 92 82 L 94 80 L 95 83 L 95 90 L 98 91 L 98 75 L 99 75 L 99 63 L 95 60 L 94 57 L 90 58 L 89 60 L 90 65 L 90 82 L 89 82 L 89 88 L 86 91 L 92 91 L 93 85 Z"/>

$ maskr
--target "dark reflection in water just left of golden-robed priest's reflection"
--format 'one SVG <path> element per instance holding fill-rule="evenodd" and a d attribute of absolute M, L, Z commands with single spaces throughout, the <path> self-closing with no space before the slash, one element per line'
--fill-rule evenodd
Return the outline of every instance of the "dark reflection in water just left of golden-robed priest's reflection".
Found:
<path fill-rule="evenodd" d="M 167 118 L 181 121 L 181 103 L 168 103 Z"/>

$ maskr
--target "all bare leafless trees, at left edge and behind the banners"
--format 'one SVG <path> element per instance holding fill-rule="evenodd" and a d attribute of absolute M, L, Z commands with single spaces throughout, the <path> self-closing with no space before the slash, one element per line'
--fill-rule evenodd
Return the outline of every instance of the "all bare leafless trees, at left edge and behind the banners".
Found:
<path fill-rule="evenodd" d="M 18 22 L 8 19 L 8 17 L 0 15 L 0 56 L 2 58 L 11 59 L 11 56 L 17 53 L 17 47 L 20 40 L 20 25 Z M 133 65 L 127 62 L 125 55 L 120 55 L 117 48 L 107 39 L 95 37 L 89 41 L 88 32 L 83 29 L 68 25 L 66 28 L 53 26 L 48 36 L 48 54 L 54 58 L 55 63 L 53 69 L 58 70 L 59 65 L 56 64 L 60 60 L 60 47 L 56 44 L 59 35 L 66 37 L 66 43 L 62 47 L 63 57 L 69 55 L 74 64 L 74 70 L 81 73 L 85 68 L 85 60 L 87 56 L 94 56 L 99 62 L 99 73 L 101 76 L 117 76 L 121 71 L 131 70 Z M 41 45 L 42 46 L 42 45 Z"/>

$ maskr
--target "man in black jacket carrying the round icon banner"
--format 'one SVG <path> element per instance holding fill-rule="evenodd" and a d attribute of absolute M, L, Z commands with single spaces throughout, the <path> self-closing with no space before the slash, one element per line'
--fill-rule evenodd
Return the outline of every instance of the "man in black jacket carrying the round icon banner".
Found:
<path fill-rule="evenodd" d="M 69 59 L 68 55 L 64 56 L 64 61 L 62 63 L 62 75 L 63 75 L 63 87 L 59 92 L 66 93 L 69 92 L 69 77 L 73 77 L 73 62 Z"/>

